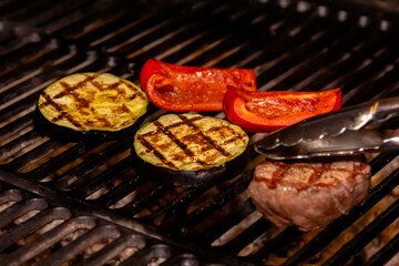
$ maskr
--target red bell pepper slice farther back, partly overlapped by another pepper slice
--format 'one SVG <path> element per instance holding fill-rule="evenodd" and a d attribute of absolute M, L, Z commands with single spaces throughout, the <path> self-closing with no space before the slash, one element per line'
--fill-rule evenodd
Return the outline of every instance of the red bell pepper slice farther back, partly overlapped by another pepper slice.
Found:
<path fill-rule="evenodd" d="M 248 69 L 185 66 L 149 60 L 140 74 L 142 89 L 158 108 L 174 112 L 223 111 L 227 85 L 256 91 Z"/>

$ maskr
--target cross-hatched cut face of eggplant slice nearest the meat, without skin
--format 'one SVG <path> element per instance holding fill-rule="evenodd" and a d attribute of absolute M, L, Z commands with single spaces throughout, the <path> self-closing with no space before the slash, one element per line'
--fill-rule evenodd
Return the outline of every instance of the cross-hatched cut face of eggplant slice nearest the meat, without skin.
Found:
<path fill-rule="evenodd" d="M 185 166 L 181 168 L 180 165 L 181 163 L 186 165 L 184 163 L 186 160 L 197 164 L 196 167 L 192 167 L 192 171 L 207 166 L 219 166 L 224 162 L 231 161 L 233 153 L 236 154 L 237 152 L 232 149 L 229 143 L 239 141 L 237 145 L 242 145 L 244 144 L 242 140 L 247 139 L 244 132 L 237 131 L 232 124 L 214 122 L 212 119 L 208 121 L 207 116 L 192 114 L 171 114 L 168 116 L 170 119 L 153 121 L 152 125 L 149 124 L 152 127 L 146 130 L 147 127 L 144 126 L 145 130 L 143 129 L 143 131 L 146 132 L 139 133 L 135 136 L 134 149 L 139 157 L 153 162 L 152 164 L 155 166 L 163 165 L 172 170 L 182 170 Z M 144 140 L 150 143 L 143 143 Z M 177 147 L 173 149 L 174 145 Z M 229 149 L 233 152 L 229 152 Z M 194 156 L 191 156 L 192 154 Z M 163 157 L 158 157 L 160 155 Z M 192 158 L 195 161 L 193 162 Z M 160 163 L 156 164 L 156 161 Z M 168 166 L 167 163 L 172 163 L 176 167 Z M 198 167 L 198 165 L 202 166 Z"/>

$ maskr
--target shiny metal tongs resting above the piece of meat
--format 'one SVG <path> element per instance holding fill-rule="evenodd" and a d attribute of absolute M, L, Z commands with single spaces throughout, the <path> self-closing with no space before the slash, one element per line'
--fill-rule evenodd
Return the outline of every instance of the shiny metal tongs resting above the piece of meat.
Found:
<path fill-rule="evenodd" d="M 381 130 L 399 116 L 399 98 L 344 108 L 313 116 L 272 133 L 255 151 L 274 160 L 356 155 L 399 149 L 399 130 Z"/>

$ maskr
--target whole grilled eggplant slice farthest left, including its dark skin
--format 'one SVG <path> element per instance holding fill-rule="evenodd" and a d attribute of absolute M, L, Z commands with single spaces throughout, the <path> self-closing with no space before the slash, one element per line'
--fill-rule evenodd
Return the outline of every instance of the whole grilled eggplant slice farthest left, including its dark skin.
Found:
<path fill-rule="evenodd" d="M 52 137 L 112 141 L 134 134 L 147 106 L 144 91 L 127 80 L 109 73 L 76 73 L 41 92 L 34 120 Z"/>

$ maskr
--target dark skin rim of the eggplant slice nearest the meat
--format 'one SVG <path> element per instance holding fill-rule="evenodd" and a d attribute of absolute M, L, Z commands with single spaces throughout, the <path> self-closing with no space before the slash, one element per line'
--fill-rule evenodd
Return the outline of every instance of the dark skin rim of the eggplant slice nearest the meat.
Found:
<path fill-rule="evenodd" d="M 153 165 L 142 160 L 134 147 L 131 150 L 131 163 L 135 173 L 144 178 L 170 186 L 204 187 L 237 176 L 249 162 L 249 146 L 238 156 L 217 167 L 198 171 L 171 170 Z"/>

